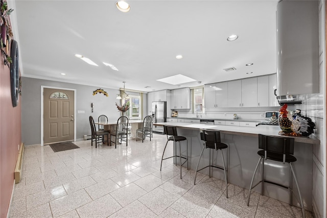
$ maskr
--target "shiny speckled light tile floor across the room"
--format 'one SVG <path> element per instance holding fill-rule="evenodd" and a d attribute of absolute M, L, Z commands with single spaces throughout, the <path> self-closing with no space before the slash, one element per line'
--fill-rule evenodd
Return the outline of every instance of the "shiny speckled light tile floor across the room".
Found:
<path fill-rule="evenodd" d="M 248 190 L 232 184 L 227 199 L 224 182 L 201 173 L 194 185 L 186 168 L 180 180 L 172 158 L 160 172 L 166 139 L 153 134 L 117 149 L 76 141 L 80 149 L 56 153 L 26 147 L 10 217 L 301 217 L 299 208 L 255 192 L 247 207 Z"/>

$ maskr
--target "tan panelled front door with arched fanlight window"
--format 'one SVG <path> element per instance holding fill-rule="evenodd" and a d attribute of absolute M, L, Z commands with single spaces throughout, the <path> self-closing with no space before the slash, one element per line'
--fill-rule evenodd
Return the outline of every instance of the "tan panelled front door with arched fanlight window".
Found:
<path fill-rule="evenodd" d="M 74 140 L 74 90 L 43 89 L 43 143 Z"/>

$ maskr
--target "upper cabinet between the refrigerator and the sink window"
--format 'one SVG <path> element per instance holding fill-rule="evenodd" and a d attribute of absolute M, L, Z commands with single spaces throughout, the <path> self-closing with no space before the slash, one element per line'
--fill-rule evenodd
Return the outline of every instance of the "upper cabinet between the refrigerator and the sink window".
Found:
<path fill-rule="evenodd" d="M 171 109 L 191 109 L 190 88 L 179 88 L 170 91 Z"/>

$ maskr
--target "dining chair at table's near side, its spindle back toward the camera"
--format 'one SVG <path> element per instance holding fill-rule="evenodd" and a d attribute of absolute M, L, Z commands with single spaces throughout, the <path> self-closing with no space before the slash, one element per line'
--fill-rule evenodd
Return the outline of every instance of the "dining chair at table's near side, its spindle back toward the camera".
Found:
<path fill-rule="evenodd" d="M 114 148 L 117 148 L 117 143 L 122 143 L 122 141 L 126 140 L 126 146 L 128 145 L 128 124 L 129 119 L 127 116 L 121 116 L 117 120 L 116 129 L 110 131 L 110 136 L 114 136 L 114 140 L 111 142 L 114 143 Z M 123 140 L 125 139 L 125 140 Z"/>

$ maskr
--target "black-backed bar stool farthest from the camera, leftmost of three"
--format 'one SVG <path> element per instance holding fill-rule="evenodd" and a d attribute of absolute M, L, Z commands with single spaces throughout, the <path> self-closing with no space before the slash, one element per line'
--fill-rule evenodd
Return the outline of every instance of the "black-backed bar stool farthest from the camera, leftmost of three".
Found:
<path fill-rule="evenodd" d="M 160 171 L 161 171 L 161 166 L 162 166 L 162 160 L 166 160 L 166 159 L 169 159 L 169 158 L 172 158 L 172 157 L 175 157 L 175 164 L 177 166 L 177 157 L 179 157 L 179 167 L 180 167 L 180 178 L 182 178 L 182 165 L 188 161 L 188 169 L 189 169 L 189 157 L 188 157 L 188 154 L 189 154 L 189 150 L 188 150 L 188 139 L 186 139 L 186 137 L 184 136 L 178 136 L 177 135 L 177 129 L 175 126 L 166 126 L 164 125 L 164 132 L 165 134 L 167 135 L 167 142 L 166 142 L 166 146 L 165 146 L 165 149 L 164 149 L 164 153 L 162 153 L 162 158 L 161 158 L 161 164 L 160 164 Z M 185 141 L 186 140 L 186 157 L 182 157 L 181 156 L 181 151 L 180 151 L 180 142 L 181 141 Z M 165 154 L 165 151 L 166 151 L 166 147 L 167 147 L 167 144 L 169 141 L 173 141 L 175 142 L 175 155 L 174 156 L 171 156 L 171 157 L 167 157 L 167 158 L 164 158 L 164 154 Z M 179 143 L 179 156 L 177 155 L 176 153 L 176 147 L 177 147 L 177 142 Z M 185 159 L 185 161 L 183 163 L 181 163 L 181 158 Z"/>

